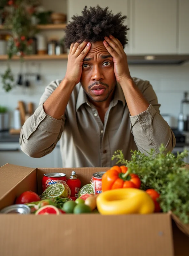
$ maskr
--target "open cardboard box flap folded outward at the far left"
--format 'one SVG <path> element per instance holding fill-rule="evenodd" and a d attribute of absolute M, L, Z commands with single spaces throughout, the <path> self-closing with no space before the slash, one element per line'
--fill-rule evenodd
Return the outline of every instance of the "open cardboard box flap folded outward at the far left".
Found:
<path fill-rule="evenodd" d="M 14 164 L 5 164 L 0 167 L 0 200 L 21 180 L 25 179 L 34 169 Z"/>

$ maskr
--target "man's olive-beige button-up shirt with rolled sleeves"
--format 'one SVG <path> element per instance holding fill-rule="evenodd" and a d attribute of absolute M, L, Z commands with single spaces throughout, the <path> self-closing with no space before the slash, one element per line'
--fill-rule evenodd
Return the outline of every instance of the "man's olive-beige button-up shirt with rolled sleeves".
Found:
<path fill-rule="evenodd" d="M 154 148 L 158 153 L 163 143 L 172 151 L 175 136 L 160 115 L 160 104 L 151 84 L 139 78 L 133 80 L 149 102 L 148 109 L 130 116 L 124 93 L 117 83 L 104 124 L 80 83 L 74 87 L 62 120 L 47 115 L 43 103 L 61 80 L 52 82 L 45 88 L 39 107 L 22 127 L 21 149 L 31 157 L 42 157 L 60 140 L 63 167 L 110 167 L 116 163 L 111 157 L 117 149 L 123 150 L 128 160 L 131 149 L 147 154 Z"/>

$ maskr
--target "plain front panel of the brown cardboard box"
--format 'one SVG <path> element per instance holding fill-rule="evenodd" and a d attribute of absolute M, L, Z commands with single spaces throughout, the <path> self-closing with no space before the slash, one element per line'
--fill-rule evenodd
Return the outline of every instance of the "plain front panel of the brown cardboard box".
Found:
<path fill-rule="evenodd" d="M 171 216 L 166 213 L 4 214 L 0 227 L 4 256 L 173 255 Z"/>

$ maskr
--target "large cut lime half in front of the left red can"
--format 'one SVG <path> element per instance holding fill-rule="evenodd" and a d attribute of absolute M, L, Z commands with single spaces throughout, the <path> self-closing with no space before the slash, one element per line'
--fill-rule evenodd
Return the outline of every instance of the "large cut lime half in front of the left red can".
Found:
<path fill-rule="evenodd" d="M 68 196 L 68 191 L 62 183 L 52 184 L 48 188 L 46 188 L 45 191 L 42 193 L 41 199 L 45 197 L 55 198 L 58 196 L 60 197 Z"/>

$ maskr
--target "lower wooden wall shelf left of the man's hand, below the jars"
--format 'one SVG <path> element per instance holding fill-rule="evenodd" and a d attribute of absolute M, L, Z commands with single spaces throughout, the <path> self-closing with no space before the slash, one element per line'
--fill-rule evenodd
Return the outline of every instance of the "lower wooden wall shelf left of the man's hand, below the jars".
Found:
<path fill-rule="evenodd" d="M 61 55 L 27 55 L 24 57 L 24 60 L 66 60 L 68 55 L 66 53 Z M 19 56 L 14 56 L 11 60 L 19 60 Z M 0 55 L 0 60 L 8 60 L 7 55 Z"/>

